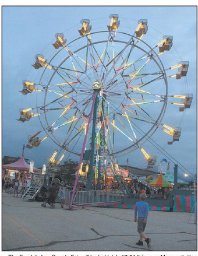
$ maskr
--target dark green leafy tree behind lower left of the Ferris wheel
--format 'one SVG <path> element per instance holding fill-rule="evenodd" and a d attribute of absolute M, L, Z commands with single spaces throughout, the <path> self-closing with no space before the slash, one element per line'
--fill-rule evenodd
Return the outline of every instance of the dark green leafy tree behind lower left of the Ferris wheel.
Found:
<path fill-rule="evenodd" d="M 69 184 L 73 177 L 72 174 L 75 174 L 77 171 L 77 166 L 78 162 L 68 159 L 62 164 L 62 166 L 59 167 L 57 175 L 62 178 L 62 181 L 65 184 Z"/>

